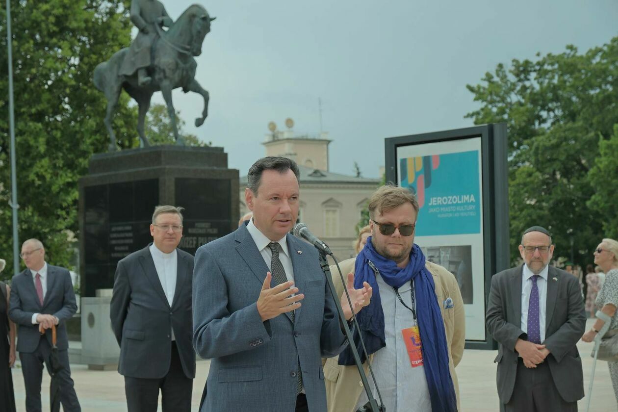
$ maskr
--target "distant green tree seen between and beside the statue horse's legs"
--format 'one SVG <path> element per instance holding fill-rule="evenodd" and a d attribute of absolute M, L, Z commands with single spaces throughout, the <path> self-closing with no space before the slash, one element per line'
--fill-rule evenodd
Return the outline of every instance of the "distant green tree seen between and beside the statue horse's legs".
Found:
<path fill-rule="evenodd" d="M 212 143 L 200 141 L 196 135 L 185 133 L 185 121 L 180 119 L 180 112 L 176 112 L 176 127 L 180 137 L 184 138 L 187 146 L 211 146 Z M 146 138 L 151 145 L 174 145 L 174 131 L 167 114 L 167 106 L 153 104 L 146 115 Z"/>

